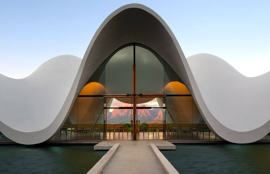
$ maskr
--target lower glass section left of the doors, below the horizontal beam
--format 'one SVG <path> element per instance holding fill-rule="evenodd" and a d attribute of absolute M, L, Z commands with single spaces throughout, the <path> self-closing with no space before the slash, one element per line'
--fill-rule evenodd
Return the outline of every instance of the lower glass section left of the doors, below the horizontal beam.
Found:
<path fill-rule="evenodd" d="M 78 97 L 61 130 L 50 140 L 103 140 L 104 98 Z"/>

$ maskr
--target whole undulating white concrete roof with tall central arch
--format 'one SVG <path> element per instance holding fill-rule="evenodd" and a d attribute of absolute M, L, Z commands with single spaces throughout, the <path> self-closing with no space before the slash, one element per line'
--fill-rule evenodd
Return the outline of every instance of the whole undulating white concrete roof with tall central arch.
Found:
<path fill-rule="evenodd" d="M 152 48 L 173 68 L 205 122 L 222 139 L 250 143 L 270 131 L 269 72 L 245 77 L 209 54 L 193 55 L 187 61 L 164 20 L 141 4 L 111 13 L 82 60 L 58 56 L 24 79 L 0 75 L 0 131 L 22 144 L 48 140 L 64 124 L 79 92 L 101 63 L 120 46 L 133 42 Z"/>

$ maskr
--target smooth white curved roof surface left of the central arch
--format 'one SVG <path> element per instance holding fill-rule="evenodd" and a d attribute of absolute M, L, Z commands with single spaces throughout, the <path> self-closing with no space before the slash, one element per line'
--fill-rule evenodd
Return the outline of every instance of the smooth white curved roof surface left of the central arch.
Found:
<path fill-rule="evenodd" d="M 21 132 L 48 127 L 67 98 L 81 60 L 73 55 L 51 58 L 23 79 L 0 74 L 0 121 Z"/>

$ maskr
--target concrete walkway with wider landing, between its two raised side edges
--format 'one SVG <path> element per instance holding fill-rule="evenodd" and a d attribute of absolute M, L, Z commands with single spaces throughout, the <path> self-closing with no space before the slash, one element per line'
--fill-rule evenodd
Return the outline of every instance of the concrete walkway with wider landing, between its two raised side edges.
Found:
<path fill-rule="evenodd" d="M 116 143 L 120 143 L 120 146 L 101 173 L 166 173 L 149 143 L 166 145 L 169 142 L 163 140 L 110 140 L 101 142 L 100 145 L 109 146 Z"/>

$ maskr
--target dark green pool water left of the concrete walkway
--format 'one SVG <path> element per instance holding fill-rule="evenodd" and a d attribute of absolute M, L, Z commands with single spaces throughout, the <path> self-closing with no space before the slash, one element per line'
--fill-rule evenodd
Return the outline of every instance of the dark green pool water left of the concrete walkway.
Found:
<path fill-rule="evenodd" d="M 107 151 L 92 145 L 0 146 L 0 173 L 87 173 Z"/>

